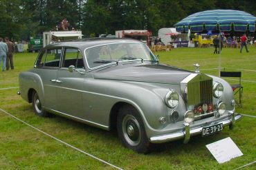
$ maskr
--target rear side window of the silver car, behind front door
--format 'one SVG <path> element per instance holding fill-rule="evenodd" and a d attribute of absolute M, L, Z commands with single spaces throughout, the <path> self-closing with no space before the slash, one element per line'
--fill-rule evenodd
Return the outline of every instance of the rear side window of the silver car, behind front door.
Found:
<path fill-rule="evenodd" d="M 61 47 L 44 50 L 37 58 L 36 67 L 60 67 L 61 55 Z"/>

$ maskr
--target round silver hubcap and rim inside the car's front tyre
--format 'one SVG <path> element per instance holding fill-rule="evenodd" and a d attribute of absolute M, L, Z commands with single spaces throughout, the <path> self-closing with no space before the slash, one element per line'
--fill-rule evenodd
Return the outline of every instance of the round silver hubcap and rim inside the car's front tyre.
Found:
<path fill-rule="evenodd" d="M 137 146 L 141 140 L 141 129 L 138 120 L 132 115 L 122 119 L 122 133 L 129 145 Z"/>

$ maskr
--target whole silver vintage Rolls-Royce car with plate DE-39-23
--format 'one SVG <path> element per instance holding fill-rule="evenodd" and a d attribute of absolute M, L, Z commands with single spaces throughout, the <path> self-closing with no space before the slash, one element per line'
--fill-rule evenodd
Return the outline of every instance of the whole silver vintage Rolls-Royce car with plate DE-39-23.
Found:
<path fill-rule="evenodd" d="M 82 39 L 44 47 L 33 69 L 19 74 L 19 92 L 35 114 L 58 114 L 117 129 L 139 153 L 151 143 L 208 136 L 232 129 L 230 85 L 223 79 L 163 65 L 134 39 Z"/>

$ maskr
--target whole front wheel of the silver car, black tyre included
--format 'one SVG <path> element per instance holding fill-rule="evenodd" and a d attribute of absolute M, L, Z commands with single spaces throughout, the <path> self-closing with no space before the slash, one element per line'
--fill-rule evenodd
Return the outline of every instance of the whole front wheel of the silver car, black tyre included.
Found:
<path fill-rule="evenodd" d="M 150 142 L 145 133 L 143 120 L 131 106 L 122 107 L 117 118 L 118 136 L 125 147 L 138 153 L 147 153 Z"/>

